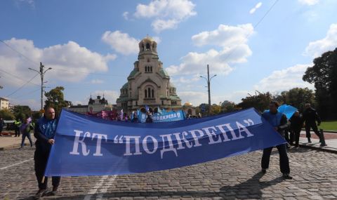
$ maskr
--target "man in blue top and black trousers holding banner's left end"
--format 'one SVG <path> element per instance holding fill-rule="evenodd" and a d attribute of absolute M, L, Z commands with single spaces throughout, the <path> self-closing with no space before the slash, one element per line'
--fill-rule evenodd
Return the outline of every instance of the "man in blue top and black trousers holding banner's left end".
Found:
<path fill-rule="evenodd" d="M 37 182 L 39 184 L 39 191 L 34 196 L 34 199 L 39 199 L 44 196 L 47 191 L 48 178 L 44 177 L 44 171 L 46 170 L 46 164 L 48 161 L 49 153 L 51 152 L 51 146 L 54 144 L 55 131 L 58 120 L 55 119 L 55 110 L 53 107 L 47 107 L 44 116 L 42 116 L 34 128 L 34 137 L 37 138 L 35 142 L 36 150 L 34 153 L 34 167 L 35 175 L 37 176 Z M 55 195 L 58 192 L 58 186 L 60 185 L 61 178 L 59 176 L 52 177 L 53 190 L 48 195 Z"/>

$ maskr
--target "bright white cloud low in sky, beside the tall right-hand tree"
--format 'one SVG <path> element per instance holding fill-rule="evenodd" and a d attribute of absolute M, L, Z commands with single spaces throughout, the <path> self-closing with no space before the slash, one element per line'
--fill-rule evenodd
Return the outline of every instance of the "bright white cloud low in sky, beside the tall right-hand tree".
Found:
<path fill-rule="evenodd" d="M 254 88 L 258 91 L 270 91 L 280 92 L 286 91 L 291 88 L 311 88 L 314 89 L 312 84 L 302 80 L 302 76 L 306 69 L 310 67 L 308 65 L 295 65 L 286 69 L 276 70 L 270 74 L 270 76 L 262 79 Z"/>

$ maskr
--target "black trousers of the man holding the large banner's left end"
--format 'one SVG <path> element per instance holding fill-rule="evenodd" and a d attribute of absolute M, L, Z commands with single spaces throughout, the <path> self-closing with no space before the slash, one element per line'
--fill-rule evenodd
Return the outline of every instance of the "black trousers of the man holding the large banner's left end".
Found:
<path fill-rule="evenodd" d="M 39 189 L 47 189 L 48 178 L 44 178 L 44 183 L 42 183 L 42 178 L 44 177 L 44 171 L 46 170 L 50 147 L 46 149 L 46 147 L 41 146 L 38 142 L 36 143 L 36 146 L 37 149 L 34 152 L 35 175 L 37 176 Z M 60 176 L 53 176 L 51 178 L 53 187 L 58 187 L 58 185 L 60 185 L 60 180 Z"/>

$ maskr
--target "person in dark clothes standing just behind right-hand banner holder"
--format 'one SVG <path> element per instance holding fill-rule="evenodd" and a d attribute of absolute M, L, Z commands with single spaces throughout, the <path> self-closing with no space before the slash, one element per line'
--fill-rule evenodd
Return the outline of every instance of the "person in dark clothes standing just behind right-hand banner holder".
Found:
<path fill-rule="evenodd" d="M 300 130 L 303 128 L 303 117 L 300 113 L 296 111 L 290 118 L 290 142 L 293 145 L 293 140 L 295 140 L 295 147 L 298 147 L 298 142 L 300 140 Z"/>

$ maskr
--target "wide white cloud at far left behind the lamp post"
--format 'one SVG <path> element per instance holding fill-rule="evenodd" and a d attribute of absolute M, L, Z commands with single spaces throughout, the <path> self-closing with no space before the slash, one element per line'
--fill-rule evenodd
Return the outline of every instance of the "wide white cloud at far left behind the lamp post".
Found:
<path fill-rule="evenodd" d="M 0 46 L 0 68 L 23 80 L 28 80 L 36 74 L 28 68 L 38 69 L 40 61 L 44 63 L 46 69 L 53 68 L 46 73 L 48 79 L 77 82 L 86 78 L 90 72 L 107 72 L 107 62 L 116 58 L 116 55 L 100 55 L 90 51 L 74 41 L 46 48 L 37 48 L 33 41 L 27 39 L 12 38 L 5 43 L 32 60 L 23 58 L 4 45 Z M 4 81 L 10 86 L 25 83 L 1 73 L 1 76 L 3 75 Z M 39 84 L 38 79 L 35 79 L 34 83 Z"/>

